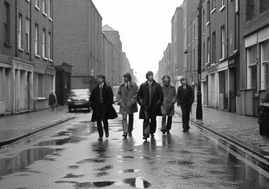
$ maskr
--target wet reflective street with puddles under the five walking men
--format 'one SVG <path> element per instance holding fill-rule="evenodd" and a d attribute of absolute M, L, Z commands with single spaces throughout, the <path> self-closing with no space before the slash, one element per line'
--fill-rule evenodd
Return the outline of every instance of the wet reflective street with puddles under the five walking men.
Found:
<path fill-rule="evenodd" d="M 118 106 L 116 106 L 118 108 Z M 268 173 L 226 151 L 210 134 L 173 117 L 171 134 L 142 139 L 142 120 L 123 139 L 121 115 L 110 120 L 110 137 L 98 141 L 91 113 L 0 149 L 1 189 L 267 189 Z M 258 171 L 257 171 L 258 170 Z"/>

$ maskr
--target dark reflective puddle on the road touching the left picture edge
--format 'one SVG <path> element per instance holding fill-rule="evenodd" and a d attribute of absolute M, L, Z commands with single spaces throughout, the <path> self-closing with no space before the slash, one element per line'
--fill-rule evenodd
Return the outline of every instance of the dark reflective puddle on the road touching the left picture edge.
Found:
<path fill-rule="evenodd" d="M 6 176 L 16 172 L 30 172 L 26 168 L 39 160 L 54 161 L 50 155 L 56 156 L 63 149 L 33 148 L 27 149 L 14 157 L 0 159 L 0 176 Z M 49 157 L 48 157 L 49 156 Z"/>

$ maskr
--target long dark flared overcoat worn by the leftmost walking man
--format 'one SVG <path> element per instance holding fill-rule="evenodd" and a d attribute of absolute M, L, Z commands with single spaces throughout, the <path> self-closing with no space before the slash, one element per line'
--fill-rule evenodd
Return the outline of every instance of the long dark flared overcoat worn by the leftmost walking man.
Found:
<path fill-rule="evenodd" d="M 103 85 L 102 88 L 103 93 L 103 102 L 106 105 L 107 109 L 107 119 L 115 119 L 118 117 L 118 114 L 116 110 L 113 107 L 113 91 L 112 88 L 106 84 L 106 82 Z M 93 89 L 91 97 L 91 107 L 93 108 L 93 114 L 92 114 L 92 122 L 97 121 L 98 113 L 99 113 L 99 107 L 100 107 L 100 88 L 99 84 Z"/>

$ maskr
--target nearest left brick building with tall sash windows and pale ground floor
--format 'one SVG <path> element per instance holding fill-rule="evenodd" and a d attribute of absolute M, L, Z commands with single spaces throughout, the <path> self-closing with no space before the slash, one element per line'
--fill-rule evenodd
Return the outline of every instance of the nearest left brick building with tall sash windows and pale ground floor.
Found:
<path fill-rule="evenodd" d="M 48 107 L 55 89 L 51 0 L 0 0 L 0 114 Z"/>

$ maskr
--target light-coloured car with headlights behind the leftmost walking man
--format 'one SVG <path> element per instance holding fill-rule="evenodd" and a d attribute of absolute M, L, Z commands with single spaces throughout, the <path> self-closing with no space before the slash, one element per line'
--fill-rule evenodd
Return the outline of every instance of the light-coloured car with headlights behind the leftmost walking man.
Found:
<path fill-rule="evenodd" d="M 67 98 L 69 112 L 72 109 L 80 108 L 87 108 L 88 111 L 91 111 L 90 96 L 91 93 L 88 89 L 71 90 Z"/>

